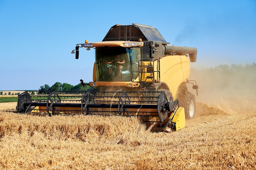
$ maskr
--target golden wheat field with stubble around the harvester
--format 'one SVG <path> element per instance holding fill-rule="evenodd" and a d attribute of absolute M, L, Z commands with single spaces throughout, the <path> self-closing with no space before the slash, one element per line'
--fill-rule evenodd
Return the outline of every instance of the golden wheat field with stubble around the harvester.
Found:
<path fill-rule="evenodd" d="M 256 111 L 227 113 L 197 103 L 171 133 L 136 117 L 32 116 L 0 103 L 0 169 L 256 169 Z"/>

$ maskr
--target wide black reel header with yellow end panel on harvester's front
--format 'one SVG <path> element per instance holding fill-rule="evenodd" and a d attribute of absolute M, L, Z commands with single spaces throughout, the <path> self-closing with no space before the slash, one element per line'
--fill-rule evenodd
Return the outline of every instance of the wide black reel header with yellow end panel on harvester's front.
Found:
<path fill-rule="evenodd" d="M 139 116 L 164 131 L 185 126 L 184 108 L 169 101 L 164 92 L 23 92 L 18 95 L 19 113 Z M 34 94 L 34 95 L 32 95 Z"/>

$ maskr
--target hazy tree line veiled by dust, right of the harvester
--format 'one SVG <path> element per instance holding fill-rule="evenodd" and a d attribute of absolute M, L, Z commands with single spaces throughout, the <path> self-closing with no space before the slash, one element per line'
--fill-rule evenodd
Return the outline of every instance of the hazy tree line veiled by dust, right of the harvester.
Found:
<path fill-rule="evenodd" d="M 219 65 L 203 70 L 191 69 L 199 88 L 212 92 L 238 93 L 241 96 L 256 95 L 256 63 Z"/>

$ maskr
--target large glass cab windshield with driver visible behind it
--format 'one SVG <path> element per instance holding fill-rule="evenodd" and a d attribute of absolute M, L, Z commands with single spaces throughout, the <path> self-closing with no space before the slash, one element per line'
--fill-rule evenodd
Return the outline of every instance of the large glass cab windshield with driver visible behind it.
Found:
<path fill-rule="evenodd" d="M 138 76 L 140 47 L 96 48 L 97 81 L 134 81 Z"/>

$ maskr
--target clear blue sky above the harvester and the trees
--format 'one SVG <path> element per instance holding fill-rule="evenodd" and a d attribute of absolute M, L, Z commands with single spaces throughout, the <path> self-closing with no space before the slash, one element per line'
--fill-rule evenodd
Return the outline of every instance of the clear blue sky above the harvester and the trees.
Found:
<path fill-rule="evenodd" d="M 196 47 L 192 68 L 256 62 L 256 0 L 0 0 L 0 91 L 92 81 L 94 50 L 115 24 L 145 24 Z"/>

